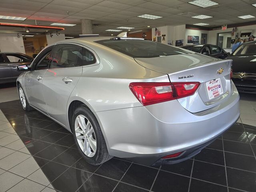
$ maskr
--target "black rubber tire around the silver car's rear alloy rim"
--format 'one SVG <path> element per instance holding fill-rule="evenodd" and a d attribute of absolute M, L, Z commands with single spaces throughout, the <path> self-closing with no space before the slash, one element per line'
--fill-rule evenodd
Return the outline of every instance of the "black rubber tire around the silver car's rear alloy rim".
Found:
<path fill-rule="evenodd" d="M 88 118 L 88 120 L 90 121 L 90 123 L 92 124 L 92 127 L 94 129 L 94 133 L 95 133 L 95 137 L 96 137 L 96 141 L 97 141 L 97 146 L 96 146 L 95 155 L 93 157 L 88 157 L 88 156 L 86 156 L 84 154 L 84 152 L 80 148 L 80 146 L 78 144 L 78 141 L 76 139 L 75 120 L 76 120 L 76 117 L 78 115 L 84 115 L 86 118 Z M 104 136 L 103 136 L 102 131 L 100 129 L 100 125 L 99 125 L 96 117 L 90 111 L 90 109 L 88 109 L 86 106 L 81 105 L 81 106 L 78 106 L 78 108 L 76 108 L 74 110 L 74 113 L 73 113 L 73 116 L 72 116 L 71 129 L 72 129 L 72 133 L 73 133 L 73 136 L 74 136 L 74 140 L 75 140 L 76 146 L 77 146 L 80 154 L 86 160 L 86 162 L 88 162 L 88 163 L 90 163 L 92 165 L 100 165 L 100 164 L 110 160 L 113 157 L 113 156 L 110 156 L 108 154 L 108 149 L 107 149 L 107 146 L 106 146 L 106 141 L 104 139 Z"/>

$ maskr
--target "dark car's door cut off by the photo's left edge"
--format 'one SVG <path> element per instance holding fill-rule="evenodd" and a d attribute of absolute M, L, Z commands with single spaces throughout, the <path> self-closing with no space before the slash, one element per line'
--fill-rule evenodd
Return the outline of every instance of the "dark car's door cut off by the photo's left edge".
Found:
<path fill-rule="evenodd" d="M 8 58 L 5 54 L 0 54 L 0 83 L 11 82 L 12 72 L 10 69 Z"/>

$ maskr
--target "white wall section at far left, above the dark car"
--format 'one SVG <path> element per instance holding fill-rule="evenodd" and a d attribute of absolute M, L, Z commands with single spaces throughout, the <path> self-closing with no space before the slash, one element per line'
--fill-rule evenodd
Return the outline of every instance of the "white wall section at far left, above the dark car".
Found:
<path fill-rule="evenodd" d="M 18 52 L 25 54 L 22 34 L 0 33 L 0 52 Z"/>

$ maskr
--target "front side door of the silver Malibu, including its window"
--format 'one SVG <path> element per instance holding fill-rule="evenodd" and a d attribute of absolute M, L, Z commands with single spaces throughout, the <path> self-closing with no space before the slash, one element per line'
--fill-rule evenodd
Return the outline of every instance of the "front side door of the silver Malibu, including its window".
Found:
<path fill-rule="evenodd" d="M 50 46 L 38 55 L 31 66 L 31 71 L 28 71 L 24 78 L 25 92 L 29 103 L 46 114 L 42 82 L 44 74 L 52 62 L 53 50 L 54 46 Z"/>

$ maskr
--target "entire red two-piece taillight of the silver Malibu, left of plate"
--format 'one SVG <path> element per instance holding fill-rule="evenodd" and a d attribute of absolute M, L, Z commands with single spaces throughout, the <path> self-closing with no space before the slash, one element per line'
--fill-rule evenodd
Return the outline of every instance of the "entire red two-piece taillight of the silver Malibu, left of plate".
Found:
<path fill-rule="evenodd" d="M 136 82 L 130 83 L 130 90 L 144 105 L 170 101 L 194 94 L 199 82 Z"/>

